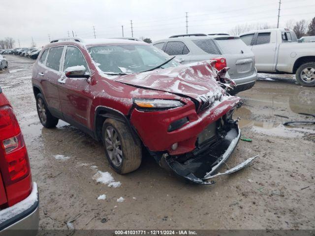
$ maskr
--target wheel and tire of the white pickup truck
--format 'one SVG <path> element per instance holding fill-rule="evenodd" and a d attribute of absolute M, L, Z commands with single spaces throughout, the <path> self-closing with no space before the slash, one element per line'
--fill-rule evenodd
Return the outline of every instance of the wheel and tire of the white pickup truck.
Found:
<path fill-rule="evenodd" d="M 303 86 L 315 86 L 315 62 L 302 64 L 296 70 L 296 80 Z"/>

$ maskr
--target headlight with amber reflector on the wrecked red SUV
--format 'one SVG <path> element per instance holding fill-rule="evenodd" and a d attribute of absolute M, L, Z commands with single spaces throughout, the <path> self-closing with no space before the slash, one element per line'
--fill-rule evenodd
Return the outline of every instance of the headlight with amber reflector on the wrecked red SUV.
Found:
<path fill-rule="evenodd" d="M 185 104 L 177 100 L 166 100 L 166 99 L 145 99 L 136 98 L 133 103 L 141 109 L 144 110 L 164 110 L 176 107 L 182 107 Z"/>

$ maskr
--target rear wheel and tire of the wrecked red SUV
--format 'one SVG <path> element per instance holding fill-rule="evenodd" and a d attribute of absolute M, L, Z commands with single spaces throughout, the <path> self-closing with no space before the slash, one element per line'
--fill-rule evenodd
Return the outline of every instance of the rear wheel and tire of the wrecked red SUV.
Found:
<path fill-rule="evenodd" d="M 51 115 L 51 113 L 47 109 L 45 99 L 41 93 L 38 93 L 36 95 L 36 109 L 37 109 L 38 118 L 44 127 L 46 128 L 56 127 L 59 119 Z"/>

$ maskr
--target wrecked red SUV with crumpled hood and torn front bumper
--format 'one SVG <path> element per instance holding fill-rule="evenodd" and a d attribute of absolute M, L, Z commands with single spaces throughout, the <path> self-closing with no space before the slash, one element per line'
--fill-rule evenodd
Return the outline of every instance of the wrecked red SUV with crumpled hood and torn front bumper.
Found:
<path fill-rule="evenodd" d="M 102 141 L 120 174 L 140 166 L 145 147 L 161 166 L 212 183 L 240 137 L 240 98 L 220 87 L 214 63 L 173 59 L 140 41 L 54 40 L 33 66 L 40 121 L 63 119 Z"/>

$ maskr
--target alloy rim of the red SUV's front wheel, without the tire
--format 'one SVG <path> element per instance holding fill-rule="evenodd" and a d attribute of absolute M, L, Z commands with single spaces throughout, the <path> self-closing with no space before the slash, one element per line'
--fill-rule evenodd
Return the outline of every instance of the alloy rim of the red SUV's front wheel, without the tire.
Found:
<path fill-rule="evenodd" d="M 123 150 L 117 131 L 112 126 L 105 130 L 105 148 L 111 162 L 119 167 L 123 161 Z"/>

